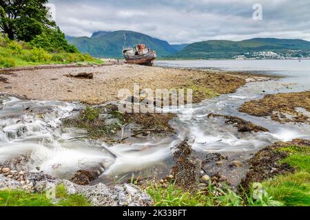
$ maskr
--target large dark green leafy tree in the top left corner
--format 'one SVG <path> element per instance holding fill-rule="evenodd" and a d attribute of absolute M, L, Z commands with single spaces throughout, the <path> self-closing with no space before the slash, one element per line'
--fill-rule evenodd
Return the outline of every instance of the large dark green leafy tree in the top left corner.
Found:
<path fill-rule="evenodd" d="M 56 28 L 46 3 L 48 0 L 1 0 L 0 29 L 11 40 L 29 42 L 45 28 Z"/>

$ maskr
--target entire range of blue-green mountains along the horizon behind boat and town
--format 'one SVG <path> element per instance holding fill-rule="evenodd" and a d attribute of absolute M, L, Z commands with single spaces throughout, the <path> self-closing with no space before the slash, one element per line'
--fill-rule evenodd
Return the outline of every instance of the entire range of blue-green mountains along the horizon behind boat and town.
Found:
<path fill-rule="evenodd" d="M 144 43 L 156 50 L 161 58 L 232 58 L 252 52 L 272 51 L 293 56 L 310 56 L 310 42 L 298 39 L 249 39 L 244 41 L 201 41 L 192 44 L 170 45 L 167 41 L 139 32 L 120 30 L 95 32 L 91 37 L 71 37 L 67 40 L 83 53 L 96 57 L 122 58 L 124 47 Z"/>

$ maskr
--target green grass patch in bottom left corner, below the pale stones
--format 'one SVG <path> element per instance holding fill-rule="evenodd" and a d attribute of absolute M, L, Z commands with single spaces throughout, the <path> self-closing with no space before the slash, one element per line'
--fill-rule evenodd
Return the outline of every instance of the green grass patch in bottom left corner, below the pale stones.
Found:
<path fill-rule="evenodd" d="M 0 190 L 0 206 L 90 206 L 81 195 L 68 195 L 65 186 L 56 187 L 56 199 L 48 199 L 45 193 L 23 190 Z"/>

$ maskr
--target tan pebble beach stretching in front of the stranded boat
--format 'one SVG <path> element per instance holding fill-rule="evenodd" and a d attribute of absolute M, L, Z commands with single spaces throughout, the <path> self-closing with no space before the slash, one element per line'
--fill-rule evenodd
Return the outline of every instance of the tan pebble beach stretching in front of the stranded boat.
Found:
<path fill-rule="evenodd" d="M 79 74 L 93 76 L 74 77 Z M 234 92 L 249 80 L 249 76 L 233 76 L 219 71 L 138 65 L 0 69 L 0 76 L 1 94 L 35 100 L 79 100 L 87 104 L 118 100 L 118 91 L 133 91 L 134 83 L 139 83 L 141 89 L 191 88 L 194 90 L 194 102 L 200 102 Z"/>

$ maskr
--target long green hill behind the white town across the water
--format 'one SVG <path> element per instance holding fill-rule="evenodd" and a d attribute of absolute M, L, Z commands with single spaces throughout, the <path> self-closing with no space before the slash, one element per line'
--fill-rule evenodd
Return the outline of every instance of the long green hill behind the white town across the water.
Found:
<path fill-rule="evenodd" d="M 244 41 L 202 41 L 192 43 L 173 58 L 232 58 L 251 52 L 272 51 L 280 54 L 310 52 L 310 42 L 289 39 L 249 39 Z"/>

